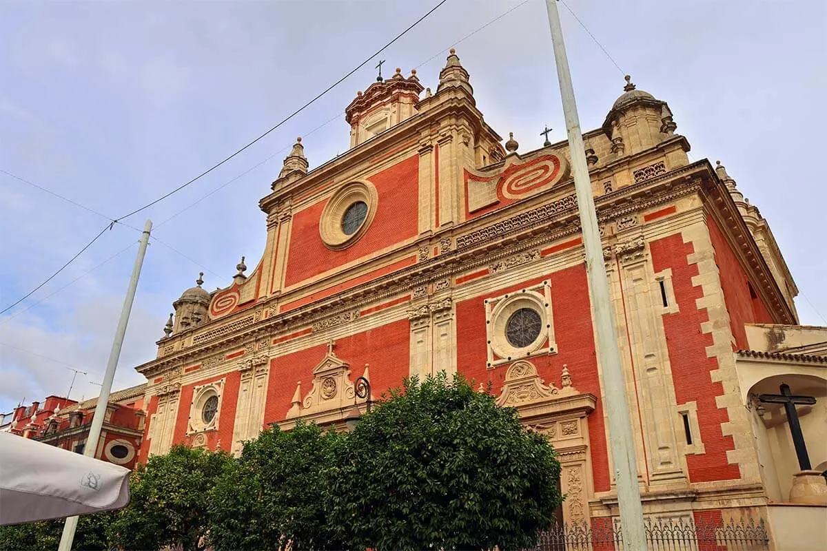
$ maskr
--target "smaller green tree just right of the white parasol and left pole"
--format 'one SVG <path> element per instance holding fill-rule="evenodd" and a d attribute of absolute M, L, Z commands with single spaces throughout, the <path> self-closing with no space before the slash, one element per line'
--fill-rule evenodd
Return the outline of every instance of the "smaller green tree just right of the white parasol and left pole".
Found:
<path fill-rule="evenodd" d="M 131 501 L 110 526 L 121 549 L 205 549 L 209 494 L 231 458 L 176 445 L 132 471 Z"/>

